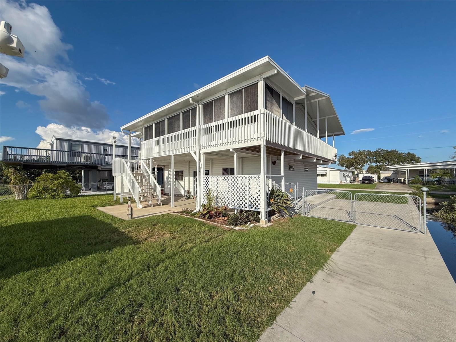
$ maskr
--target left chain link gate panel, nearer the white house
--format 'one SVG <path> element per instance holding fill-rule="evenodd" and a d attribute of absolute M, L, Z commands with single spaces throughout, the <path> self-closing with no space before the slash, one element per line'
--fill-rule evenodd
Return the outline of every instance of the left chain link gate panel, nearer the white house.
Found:
<path fill-rule="evenodd" d="M 352 222 L 352 193 L 334 190 L 306 190 L 304 215 Z"/>

